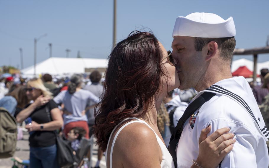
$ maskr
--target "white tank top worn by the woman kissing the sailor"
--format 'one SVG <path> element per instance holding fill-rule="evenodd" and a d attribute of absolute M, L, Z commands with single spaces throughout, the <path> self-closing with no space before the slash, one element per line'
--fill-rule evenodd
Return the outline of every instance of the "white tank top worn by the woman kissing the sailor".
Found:
<path fill-rule="evenodd" d="M 122 122 L 124 122 L 125 120 L 127 119 L 135 119 L 133 121 L 130 121 L 130 122 L 127 122 L 126 124 L 124 124 L 119 130 L 118 132 L 116 133 L 114 139 L 113 139 L 113 142 L 112 142 L 112 145 L 111 145 L 111 150 L 110 150 L 110 155 L 109 155 L 109 165 L 110 167 L 109 168 L 112 168 L 112 154 L 113 154 L 113 148 L 114 148 L 114 144 L 116 142 L 116 139 L 119 135 L 119 133 L 121 132 L 121 130 L 123 130 L 124 127 L 126 127 L 127 125 L 129 124 L 132 124 L 134 122 L 140 122 L 140 123 L 143 123 L 145 125 L 147 125 L 154 133 L 155 131 L 150 127 L 150 125 L 148 125 L 148 123 L 146 123 L 145 121 L 141 120 L 141 119 L 138 119 L 138 118 L 126 118 L 124 119 L 123 121 L 121 121 L 118 125 L 120 125 Z M 111 139 L 111 135 L 113 135 L 114 131 L 116 130 L 116 128 L 118 127 L 118 125 L 112 130 L 111 134 L 110 134 L 110 137 L 108 139 L 108 144 L 110 142 L 110 139 Z M 163 141 L 161 140 L 161 138 L 155 133 L 156 135 L 156 139 L 158 141 L 158 144 L 161 148 L 161 151 L 162 151 L 162 154 L 163 154 L 163 157 L 162 157 L 162 162 L 161 162 L 161 168 L 174 168 L 174 162 L 173 162 L 173 158 L 172 156 L 170 155 L 168 149 L 166 148 L 165 144 L 163 143 Z M 108 151 L 108 145 L 106 147 L 106 156 L 107 156 L 107 151 Z M 107 161 L 107 158 L 106 158 L 106 161 Z"/>

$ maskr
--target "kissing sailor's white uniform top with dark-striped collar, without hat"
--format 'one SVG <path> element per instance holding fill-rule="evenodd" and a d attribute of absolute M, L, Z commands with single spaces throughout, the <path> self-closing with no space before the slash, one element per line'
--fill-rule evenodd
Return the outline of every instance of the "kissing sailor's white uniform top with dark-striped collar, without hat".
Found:
<path fill-rule="evenodd" d="M 217 93 L 205 102 L 184 124 L 176 149 L 178 167 L 191 167 L 198 156 L 198 139 L 202 129 L 212 125 L 212 134 L 219 128 L 230 127 L 235 134 L 233 150 L 219 167 L 268 167 L 266 142 L 268 131 L 251 88 L 244 77 L 221 80 L 200 91 Z M 188 145 L 186 145 L 188 144 Z"/>

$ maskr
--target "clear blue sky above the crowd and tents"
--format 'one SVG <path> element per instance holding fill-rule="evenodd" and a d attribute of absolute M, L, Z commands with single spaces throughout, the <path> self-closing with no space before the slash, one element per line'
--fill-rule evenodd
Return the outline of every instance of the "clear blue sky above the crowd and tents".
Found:
<path fill-rule="evenodd" d="M 268 0 L 180 1 L 117 0 L 117 41 L 132 30 L 149 28 L 171 50 L 172 30 L 178 16 L 209 12 L 234 18 L 236 48 L 265 46 L 269 35 Z M 24 67 L 33 65 L 34 38 L 47 33 L 37 43 L 37 62 L 52 56 L 107 58 L 112 48 L 113 0 L 0 0 L 0 66 L 20 67 L 19 48 Z M 252 56 L 235 56 L 234 59 Z M 261 54 L 258 62 L 269 60 Z"/>

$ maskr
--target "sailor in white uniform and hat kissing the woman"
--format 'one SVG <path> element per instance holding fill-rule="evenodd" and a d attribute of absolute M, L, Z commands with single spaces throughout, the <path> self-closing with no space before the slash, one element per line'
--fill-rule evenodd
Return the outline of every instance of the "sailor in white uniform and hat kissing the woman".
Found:
<path fill-rule="evenodd" d="M 235 35 L 232 17 L 224 20 L 216 14 L 192 13 L 176 18 L 172 54 L 179 89 L 194 87 L 198 94 L 170 139 L 168 149 L 175 167 L 193 163 L 198 167 L 268 167 L 269 131 L 245 78 L 231 75 Z M 235 134 L 233 150 L 219 165 L 203 165 L 197 158 L 198 137 L 208 125 L 212 127 L 209 135 L 222 127 L 230 127 Z"/>

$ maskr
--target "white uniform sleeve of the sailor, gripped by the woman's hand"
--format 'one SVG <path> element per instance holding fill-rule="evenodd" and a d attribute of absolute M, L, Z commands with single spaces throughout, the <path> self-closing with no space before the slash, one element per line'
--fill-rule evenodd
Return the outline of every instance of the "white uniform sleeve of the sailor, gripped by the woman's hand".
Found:
<path fill-rule="evenodd" d="M 235 134 L 236 143 L 234 144 L 234 148 L 224 157 L 220 165 L 221 168 L 257 167 L 255 151 L 259 146 L 259 141 L 263 140 L 261 136 L 255 134 L 255 131 L 251 131 L 251 129 L 243 123 L 226 118 L 217 118 L 208 122 L 204 127 L 201 127 L 200 129 L 197 128 L 198 142 L 202 129 L 207 127 L 208 124 L 212 125 L 208 136 L 223 127 L 230 127 L 230 133 Z"/>

